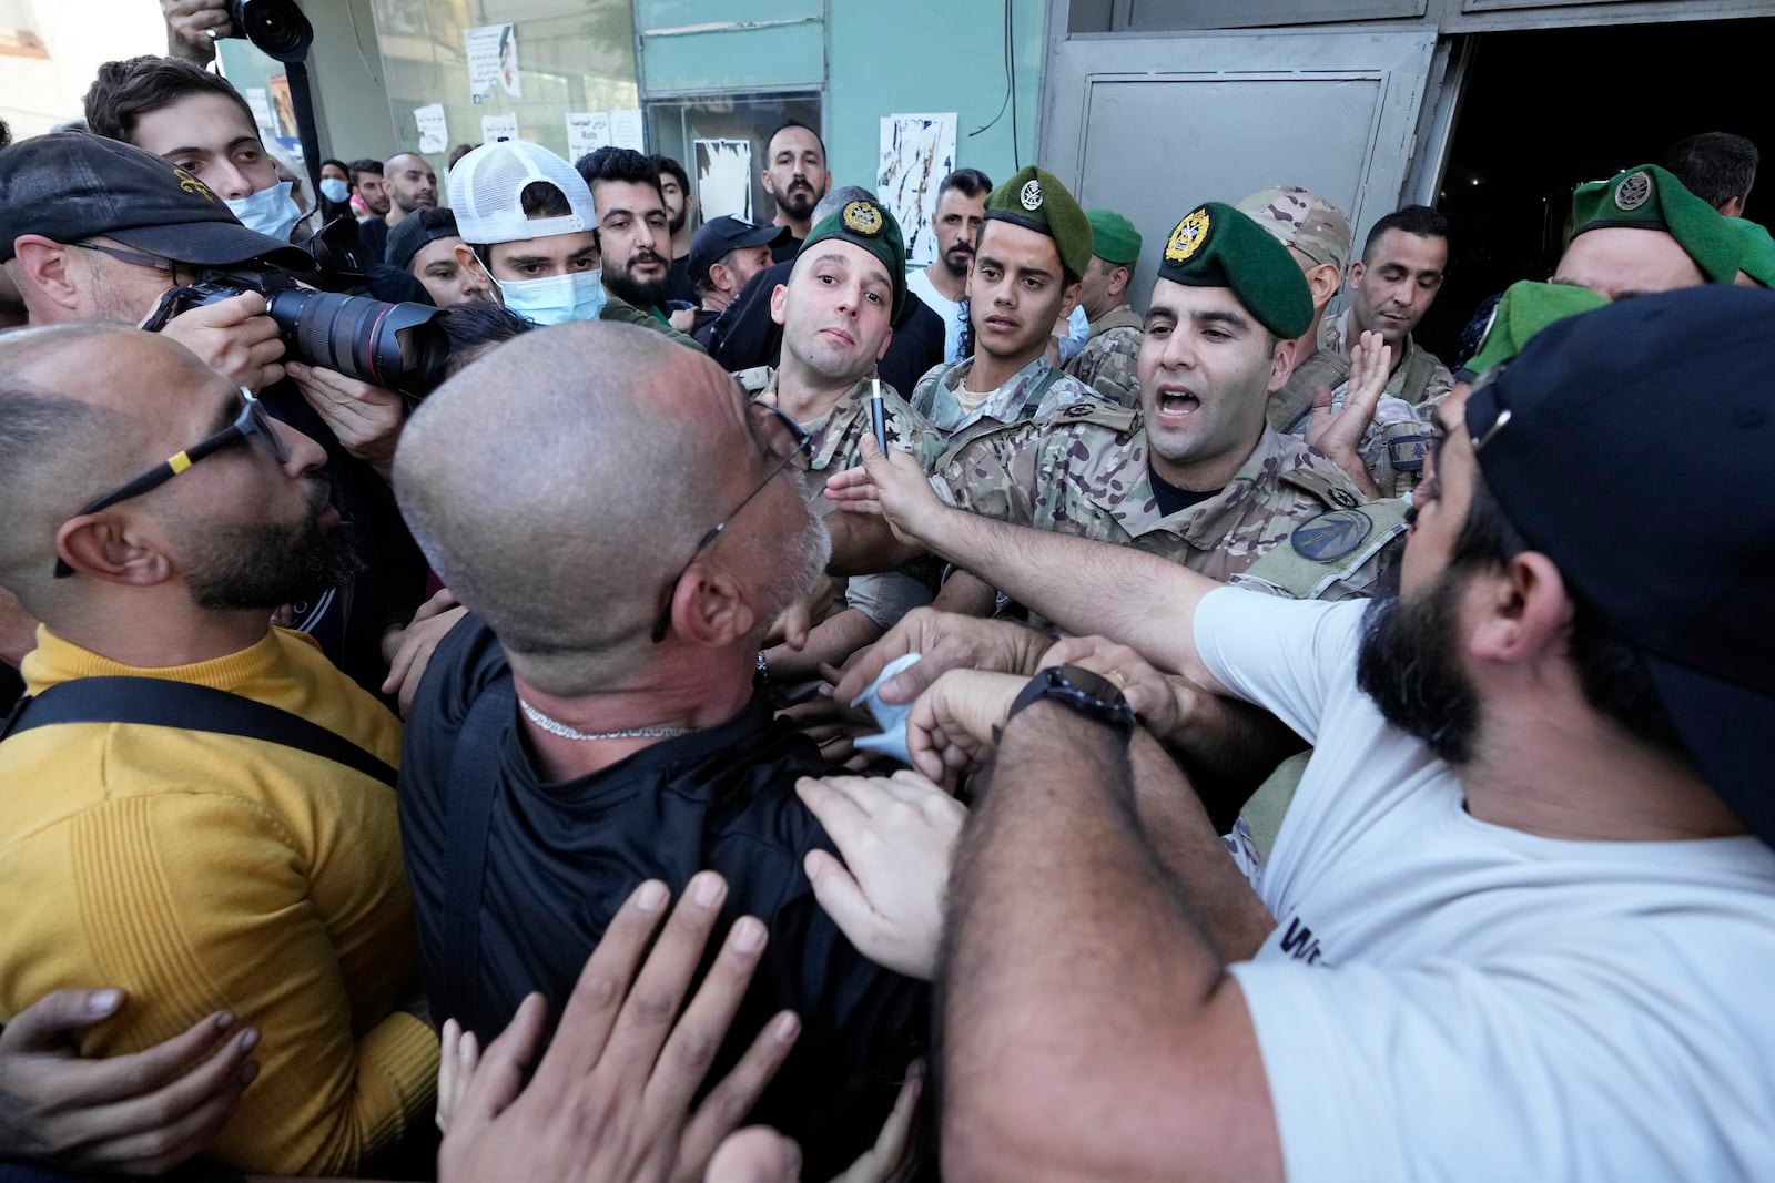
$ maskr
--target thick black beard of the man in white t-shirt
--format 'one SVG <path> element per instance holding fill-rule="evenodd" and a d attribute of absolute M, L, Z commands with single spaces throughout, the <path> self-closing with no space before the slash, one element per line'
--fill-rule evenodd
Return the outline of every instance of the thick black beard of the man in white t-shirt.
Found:
<path fill-rule="evenodd" d="M 1473 757 L 1479 734 L 1479 695 L 1456 656 L 1459 591 L 1461 578 L 1443 571 L 1416 603 L 1397 589 L 1372 599 L 1356 653 L 1356 686 L 1381 717 L 1456 766 Z"/>

